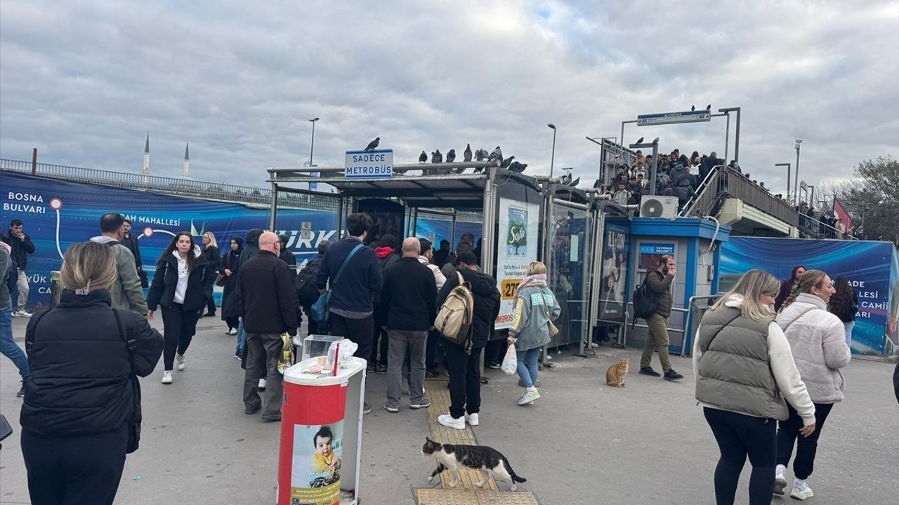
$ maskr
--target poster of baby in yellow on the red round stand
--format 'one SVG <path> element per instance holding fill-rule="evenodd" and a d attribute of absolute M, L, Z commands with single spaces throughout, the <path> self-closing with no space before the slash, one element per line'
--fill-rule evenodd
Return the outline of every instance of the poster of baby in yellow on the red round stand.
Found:
<path fill-rule="evenodd" d="M 290 502 L 302 505 L 340 503 L 343 421 L 294 425 Z"/>

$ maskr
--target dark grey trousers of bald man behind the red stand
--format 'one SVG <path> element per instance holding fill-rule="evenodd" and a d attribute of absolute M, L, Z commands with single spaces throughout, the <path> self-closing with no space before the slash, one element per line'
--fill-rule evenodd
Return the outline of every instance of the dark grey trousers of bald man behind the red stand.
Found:
<path fill-rule="evenodd" d="M 246 333 L 246 372 L 244 375 L 244 406 L 255 410 L 263 408 L 263 418 L 280 418 L 281 396 L 284 392 L 278 361 L 284 342 L 278 333 Z M 259 379 L 268 379 L 263 399 L 259 398 Z"/>

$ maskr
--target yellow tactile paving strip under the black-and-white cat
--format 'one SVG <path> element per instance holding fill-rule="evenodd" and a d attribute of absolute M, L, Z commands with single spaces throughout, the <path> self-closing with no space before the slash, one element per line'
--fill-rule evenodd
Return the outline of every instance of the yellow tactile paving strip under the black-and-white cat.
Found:
<path fill-rule="evenodd" d="M 441 414 L 449 412 L 449 389 L 447 381 L 429 379 L 425 389 L 431 399 L 428 408 L 428 423 L 432 439 L 454 445 L 476 445 L 475 433 L 466 425 L 465 430 L 447 428 L 437 421 Z M 449 473 L 441 474 L 441 488 L 417 490 L 418 505 L 539 505 L 530 492 L 500 491 L 494 478 L 489 476 L 484 488 L 477 488 L 482 476 L 475 471 L 460 472 L 456 487 L 449 487 Z M 508 484 L 505 484 L 508 485 Z"/>

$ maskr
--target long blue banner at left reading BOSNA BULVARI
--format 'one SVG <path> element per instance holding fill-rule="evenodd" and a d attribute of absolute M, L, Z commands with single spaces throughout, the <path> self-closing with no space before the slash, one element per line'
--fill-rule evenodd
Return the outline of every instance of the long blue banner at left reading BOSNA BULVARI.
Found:
<path fill-rule="evenodd" d="M 12 219 L 22 219 L 35 252 L 28 256 L 26 273 L 31 292 L 28 306 L 47 306 L 50 270 L 59 270 L 69 245 L 100 235 L 100 217 L 119 212 L 132 221 L 138 237 L 144 270 L 152 279 L 156 260 L 175 234 L 188 231 L 196 244 L 212 232 L 220 253 L 231 237 L 245 236 L 253 228 L 269 226 L 268 208 L 249 208 L 238 203 L 174 197 L 149 191 L 109 188 L 65 182 L 20 173 L 0 172 L 0 226 L 5 231 Z M 312 236 L 300 239 L 302 222 L 312 223 Z M 298 265 L 316 258 L 318 243 L 337 239 L 336 212 L 282 208 L 276 231 L 288 235 L 288 248 Z M 214 296 L 221 297 L 221 288 Z"/>

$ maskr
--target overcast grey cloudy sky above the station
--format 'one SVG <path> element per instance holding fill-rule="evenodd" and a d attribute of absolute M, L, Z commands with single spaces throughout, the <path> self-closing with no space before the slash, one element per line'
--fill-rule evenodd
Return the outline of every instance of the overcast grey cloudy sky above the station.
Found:
<path fill-rule="evenodd" d="M 637 114 L 742 107 L 740 164 L 786 189 L 899 152 L 899 2 L 49 2 L 0 4 L 0 157 L 265 185 L 343 164 L 376 136 L 395 163 L 503 146 L 592 183 Z M 664 5 L 661 7 L 660 5 Z M 733 129 L 730 157 L 733 157 Z M 725 120 L 628 125 L 690 155 Z"/>

